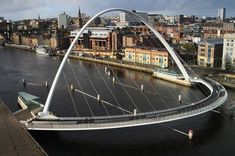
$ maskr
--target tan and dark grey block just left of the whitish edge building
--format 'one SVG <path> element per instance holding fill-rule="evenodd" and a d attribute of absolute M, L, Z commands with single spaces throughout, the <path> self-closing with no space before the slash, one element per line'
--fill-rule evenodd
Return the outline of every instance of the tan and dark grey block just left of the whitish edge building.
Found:
<path fill-rule="evenodd" d="M 199 66 L 221 68 L 223 39 L 208 39 L 198 45 L 197 62 Z"/>

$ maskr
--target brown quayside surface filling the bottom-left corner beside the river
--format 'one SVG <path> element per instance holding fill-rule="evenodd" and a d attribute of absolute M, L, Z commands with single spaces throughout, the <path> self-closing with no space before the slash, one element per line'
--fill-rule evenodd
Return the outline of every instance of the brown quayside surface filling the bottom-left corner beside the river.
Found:
<path fill-rule="evenodd" d="M 0 155 L 44 156 L 46 152 L 0 99 Z"/>

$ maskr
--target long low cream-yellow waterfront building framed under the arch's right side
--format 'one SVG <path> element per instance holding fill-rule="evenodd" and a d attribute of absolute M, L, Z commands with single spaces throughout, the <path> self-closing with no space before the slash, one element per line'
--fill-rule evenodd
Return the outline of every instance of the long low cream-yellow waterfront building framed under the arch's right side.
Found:
<path fill-rule="evenodd" d="M 127 47 L 124 52 L 123 60 L 125 61 L 156 65 L 161 68 L 167 68 L 169 65 L 169 54 L 166 49 L 136 46 Z"/>

